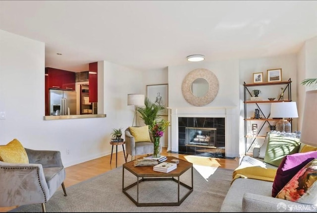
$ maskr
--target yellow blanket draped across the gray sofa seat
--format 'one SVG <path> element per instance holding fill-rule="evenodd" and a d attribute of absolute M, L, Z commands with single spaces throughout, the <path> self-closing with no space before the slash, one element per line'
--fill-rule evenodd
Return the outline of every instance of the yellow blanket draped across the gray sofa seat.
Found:
<path fill-rule="evenodd" d="M 238 167 L 233 171 L 231 184 L 237 178 L 251 178 L 274 182 L 276 170 L 277 169 L 263 168 L 261 166 Z"/>

